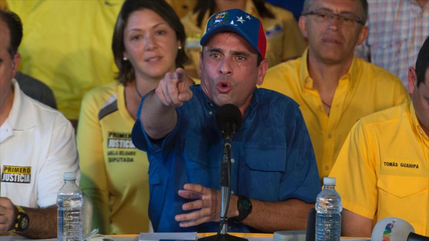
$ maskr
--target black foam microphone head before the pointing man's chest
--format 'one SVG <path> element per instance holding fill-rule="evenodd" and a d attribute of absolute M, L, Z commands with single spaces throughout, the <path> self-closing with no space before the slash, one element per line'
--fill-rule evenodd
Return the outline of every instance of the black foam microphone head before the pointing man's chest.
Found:
<path fill-rule="evenodd" d="M 241 121 L 241 111 L 233 104 L 225 104 L 216 112 L 216 124 L 225 139 L 233 139 L 233 134 L 240 128 Z"/>

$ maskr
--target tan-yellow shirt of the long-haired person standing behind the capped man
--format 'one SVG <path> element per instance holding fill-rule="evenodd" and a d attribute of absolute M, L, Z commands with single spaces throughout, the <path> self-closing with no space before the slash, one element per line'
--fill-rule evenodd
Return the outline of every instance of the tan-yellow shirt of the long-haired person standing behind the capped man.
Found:
<path fill-rule="evenodd" d="M 265 7 L 273 13 L 275 19 L 261 18 L 253 1 L 250 0 L 246 1 L 246 9 L 244 11 L 261 19 L 265 36 L 267 37 L 267 53 L 265 57 L 268 59 L 269 65 L 274 66 L 285 60 L 301 56 L 307 43 L 292 13 L 281 7 L 273 6 L 268 2 L 265 2 Z M 201 51 L 199 40 L 204 33 L 206 22 L 210 18 L 209 11 L 206 12 L 206 15 L 202 19 L 201 27 L 196 25 L 197 16 L 198 13 L 190 11 L 180 20 L 186 32 L 186 53 L 192 62 L 185 68 L 196 70 L 199 74 L 199 52 Z"/>

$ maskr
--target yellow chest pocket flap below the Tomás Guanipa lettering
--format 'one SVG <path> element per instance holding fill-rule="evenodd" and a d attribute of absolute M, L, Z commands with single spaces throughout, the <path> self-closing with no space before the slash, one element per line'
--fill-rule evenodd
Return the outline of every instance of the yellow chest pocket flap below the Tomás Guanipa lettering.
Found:
<path fill-rule="evenodd" d="M 429 177 L 382 175 L 377 181 L 378 188 L 398 198 L 404 198 L 428 189 L 428 185 Z"/>

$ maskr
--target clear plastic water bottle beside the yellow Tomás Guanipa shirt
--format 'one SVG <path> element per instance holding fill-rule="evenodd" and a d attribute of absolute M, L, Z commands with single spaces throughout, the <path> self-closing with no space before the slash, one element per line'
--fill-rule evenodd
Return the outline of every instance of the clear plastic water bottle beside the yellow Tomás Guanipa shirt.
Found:
<path fill-rule="evenodd" d="M 323 178 L 323 185 L 316 198 L 316 241 L 340 241 L 343 205 L 335 191 L 335 178 Z"/>

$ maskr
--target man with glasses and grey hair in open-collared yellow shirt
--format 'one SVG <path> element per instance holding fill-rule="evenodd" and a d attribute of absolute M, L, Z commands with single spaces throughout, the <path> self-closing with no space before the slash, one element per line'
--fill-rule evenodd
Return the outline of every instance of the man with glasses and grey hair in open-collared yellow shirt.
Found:
<path fill-rule="evenodd" d="M 367 12 L 366 0 L 306 0 L 298 24 L 308 50 L 269 69 L 261 86 L 300 105 L 322 179 L 359 118 L 409 100 L 398 77 L 353 57 Z"/>

